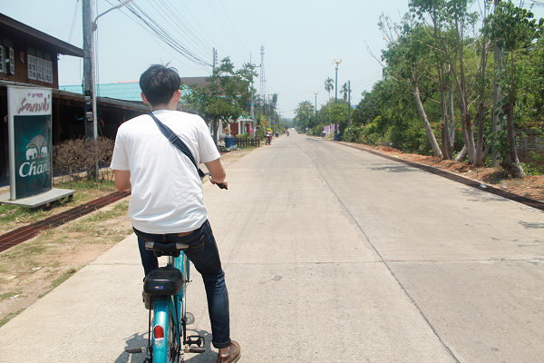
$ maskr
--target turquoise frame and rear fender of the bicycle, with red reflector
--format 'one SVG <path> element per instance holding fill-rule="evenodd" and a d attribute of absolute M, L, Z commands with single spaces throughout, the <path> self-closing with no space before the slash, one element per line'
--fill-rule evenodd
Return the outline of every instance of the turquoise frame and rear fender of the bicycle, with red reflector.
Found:
<path fill-rule="evenodd" d="M 189 260 L 181 251 L 179 257 L 169 256 L 168 265 L 180 270 L 185 282 L 178 294 L 153 299 L 153 326 L 152 329 L 150 326 L 149 334 L 151 357 L 155 363 L 180 361 L 187 339 L 185 293 L 189 283 Z M 156 333 L 160 333 L 157 327 L 162 328 L 163 338 L 155 337 Z M 170 347 L 169 340 L 173 342 L 175 349 Z"/>

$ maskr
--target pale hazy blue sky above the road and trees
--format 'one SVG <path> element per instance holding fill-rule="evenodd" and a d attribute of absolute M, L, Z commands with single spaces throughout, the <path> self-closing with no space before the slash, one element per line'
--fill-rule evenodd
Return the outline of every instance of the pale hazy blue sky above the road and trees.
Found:
<path fill-rule="evenodd" d="M 119 4 L 118 0 L 93 2 L 94 17 Z M 83 48 L 82 0 L 2 3 L 2 14 Z M 359 103 L 361 93 L 370 91 L 382 77 L 382 66 L 374 59 L 386 46 L 378 26 L 380 15 L 397 22 L 408 10 L 408 0 L 133 0 L 131 4 L 204 63 L 212 63 L 216 48 L 219 60 L 228 56 L 237 68 L 250 61 L 261 65 L 264 46 L 265 90 L 278 94 L 277 109 L 284 118 L 292 118 L 300 102 L 317 103 L 319 108 L 328 101 L 325 79 L 335 80 L 333 59 L 342 60 L 338 98 L 342 84 L 350 81 L 352 103 Z M 544 16 L 542 7 L 537 10 Z M 211 73 L 211 66 L 189 61 L 162 42 L 126 7 L 102 15 L 97 25 L 97 83 L 138 81 L 151 64 L 168 63 L 182 77 Z M 59 83 L 81 84 L 82 79 L 83 59 L 62 55 Z M 257 77 L 257 93 L 262 92 L 260 85 Z"/>

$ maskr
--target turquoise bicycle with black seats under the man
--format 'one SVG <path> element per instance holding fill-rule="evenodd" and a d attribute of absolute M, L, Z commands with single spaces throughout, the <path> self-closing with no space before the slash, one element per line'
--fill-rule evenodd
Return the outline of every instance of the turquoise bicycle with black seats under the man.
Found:
<path fill-rule="evenodd" d="M 145 243 L 157 257 L 168 256 L 164 267 L 152 270 L 143 283 L 143 298 L 150 309 L 148 347 L 127 348 L 130 354 L 149 353 L 144 363 L 179 363 L 185 353 L 203 353 L 204 337 L 187 336 L 187 284 L 189 283 L 189 259 L 183 250 L 188 244 L 181 242 Z M 151 310 L 153 311 L 151 329 Z"/>

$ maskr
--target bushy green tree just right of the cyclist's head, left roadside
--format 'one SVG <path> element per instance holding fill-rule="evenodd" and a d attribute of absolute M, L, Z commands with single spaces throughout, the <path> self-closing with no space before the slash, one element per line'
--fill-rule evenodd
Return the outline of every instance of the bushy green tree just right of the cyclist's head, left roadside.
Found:
<path fill-rule="evenodd" d="M 219 121 L 229 123 L 246 111 L 250 84 L 256 76 L 255 65 L 244 64 L 236 70 L 227 57 L 207 79 L 207 86 L 188 85 L 191 92 L 183 96 L 183 101 L 194 107 L 207 123 L 211 123 L 214 142 L 218 140 Z"/>

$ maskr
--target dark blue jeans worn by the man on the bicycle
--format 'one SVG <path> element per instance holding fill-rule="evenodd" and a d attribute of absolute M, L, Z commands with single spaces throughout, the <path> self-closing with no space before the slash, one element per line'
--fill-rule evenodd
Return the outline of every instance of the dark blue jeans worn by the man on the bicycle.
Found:
<path fill-rule="evenodd" d="M 151 270 L 157 269 L 159 263 L 153 251 L 145 249 L 145 241 L 183 242 L 189 244 L 185 255 L 202 275 L 206 296 L 208 298 L 209 322 L 211 325 L 212 344 L 215 348 L 227 348 L 230 345 L 230 322 L 228 314 L 228 291 L 225 285 L 225 272 L 221 268 L 219 250 L 209 221 L 188 235 L 177 233 L 151 234 L 134 229 L 138 236 L 141 264 L 147 276 Z"/>

